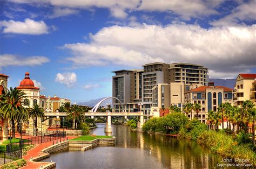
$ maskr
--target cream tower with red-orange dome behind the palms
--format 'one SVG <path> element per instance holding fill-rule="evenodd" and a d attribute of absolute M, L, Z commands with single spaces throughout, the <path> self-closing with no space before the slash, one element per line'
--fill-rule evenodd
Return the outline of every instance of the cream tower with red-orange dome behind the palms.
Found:
<path fill-rule="evenodd" d="M 24 106 L 26 108 L 32 108 L 33 104 L 40 103 L 40 90 L 35 87 L 34 82 L 29 77 L 29 72 L 25 73 L 25 78 L 19 83 L 17 89 L 24 91 L 26 99 L 24 100 Z"/>

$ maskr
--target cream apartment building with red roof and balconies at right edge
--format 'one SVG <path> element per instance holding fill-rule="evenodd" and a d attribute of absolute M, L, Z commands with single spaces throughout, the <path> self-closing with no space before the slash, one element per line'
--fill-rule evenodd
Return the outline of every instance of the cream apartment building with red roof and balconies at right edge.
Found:
<path fill-rule="evenodd" d="M 256 104 L 256 74 L 239 74 L 235 81 L 233 104 L 240 106 L 243 101 L 251 100 Z"/>

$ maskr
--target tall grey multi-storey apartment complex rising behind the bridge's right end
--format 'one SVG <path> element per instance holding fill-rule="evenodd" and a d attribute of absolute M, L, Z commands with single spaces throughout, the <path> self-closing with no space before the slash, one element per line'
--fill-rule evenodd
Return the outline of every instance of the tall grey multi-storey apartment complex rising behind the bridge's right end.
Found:
<path fill-rule="evenodd" d="M 113 71 L 112 96 L 119 98 L 126 111 L 144 111 L 150 114 L 153 101 L 153 87 L 158 84 L 180 82 L 185 85 L 197 83 L 206 85 L 207 68 L 195 64 L 165 64 L 154 62 L 143 65 L 143 70 Z M 189 90 L 189 87 L 185 87 Z M 120 111 L 120 103 L 113 99 L 115 111 Z"/>

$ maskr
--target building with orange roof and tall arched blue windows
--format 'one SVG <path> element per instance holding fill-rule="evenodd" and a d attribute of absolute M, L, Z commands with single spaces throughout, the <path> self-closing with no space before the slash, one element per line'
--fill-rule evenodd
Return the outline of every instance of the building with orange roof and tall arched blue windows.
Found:
<path fill-rule="evenodd" d="M 186 91 L 184 99 L 185 103 L 201 105 L 198 119 L 202 123 L 206 123 L 208 111 L 217 111 L 221 103 L 232 103 L 232 89 L 224 86 L 214 86 L 214 82 L 208 82 L 208 86 L 199 86 Z M 192 117 L 188 115 L 188 118 L 194 117 L 196 117 L 196 112 L 192 111 Z"/>

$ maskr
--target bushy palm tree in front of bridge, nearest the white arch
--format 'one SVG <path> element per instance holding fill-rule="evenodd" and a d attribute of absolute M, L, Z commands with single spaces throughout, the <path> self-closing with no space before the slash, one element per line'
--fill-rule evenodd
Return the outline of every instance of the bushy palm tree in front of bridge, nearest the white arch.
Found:
<path fill-rule="evenodd" d="M 77 123 L 85 119 L 84 111 L 78 105 L 72 105 L 71 110 L 67 112 L 66 119 L 69 121 L 75 121 L 75 129 L 77 128 Z"/>

